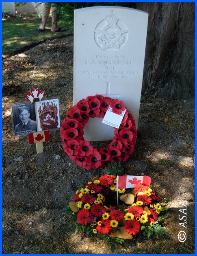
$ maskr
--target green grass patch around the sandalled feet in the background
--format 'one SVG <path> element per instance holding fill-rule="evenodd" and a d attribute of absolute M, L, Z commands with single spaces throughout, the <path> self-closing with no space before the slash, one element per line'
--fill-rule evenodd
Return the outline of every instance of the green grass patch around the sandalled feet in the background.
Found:
<path fill-rule="evenodd" d="M 41 18 L 37 18 L 34 14 L 19 15 L 16 17 L 3 17 L 2 54 L 4 56 L 11 56 L 35 46 L 40 42 L 44 42 L 47 39 L 61 38 L 73 32 L 71 24 L 60 20 L 58 25 L 67 28 L 68 31 L 63 33 L 52 33 L 50 31 L 51 17 L 48 18 L 45 32 L 36 31 L 35 28 L 40 24 Z"/>

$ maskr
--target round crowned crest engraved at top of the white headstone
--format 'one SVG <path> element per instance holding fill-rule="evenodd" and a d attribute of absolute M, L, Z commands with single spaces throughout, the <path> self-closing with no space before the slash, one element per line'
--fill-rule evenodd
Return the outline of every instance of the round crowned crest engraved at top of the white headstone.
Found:
<path fill-rule="evenodd" d="M 128 39 L 126 25 L 114 15 L 113 11 L 102 20 L 94 30 L 96 44 L 103 50 L 115 51 L 122 48 Z"/>

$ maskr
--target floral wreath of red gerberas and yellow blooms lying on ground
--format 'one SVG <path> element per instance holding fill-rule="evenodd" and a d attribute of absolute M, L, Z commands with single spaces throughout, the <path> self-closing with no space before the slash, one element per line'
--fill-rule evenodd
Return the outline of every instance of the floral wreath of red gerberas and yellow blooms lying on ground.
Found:
<path fill-rule="evenodd" d="M 65 209 L 65 212 L 73 212 L 76 230 L 122 239 L 132 239 L 139 234 L 148 238 L 153 233 L 167 234 L 160 225 L 167 218 L 161 214 L 167 208 L 160 201 L 168 200 L 157 197 L 153 188 L 138 183 L 132 191 L 129 189 L 131 193 L 125 194 L 125 189 L 118 189 L 123 195 L 117 206 L 116 182 L 116 176 L 105 174 L 91 179 L 76 191 Z"/>

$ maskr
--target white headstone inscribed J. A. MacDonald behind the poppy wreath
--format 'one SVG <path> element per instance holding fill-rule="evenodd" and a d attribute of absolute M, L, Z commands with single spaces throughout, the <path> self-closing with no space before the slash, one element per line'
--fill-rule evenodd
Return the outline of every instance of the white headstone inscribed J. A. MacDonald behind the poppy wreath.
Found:
<path fill-rule="evenodd" d="M 143 78 L 148 13 L 126 7 L 74 11 L 74 104 L 102 94 L 123 101 L 136 126 Z M 111 140 L 113 127 L 89 118 L 84 138 Z"/>

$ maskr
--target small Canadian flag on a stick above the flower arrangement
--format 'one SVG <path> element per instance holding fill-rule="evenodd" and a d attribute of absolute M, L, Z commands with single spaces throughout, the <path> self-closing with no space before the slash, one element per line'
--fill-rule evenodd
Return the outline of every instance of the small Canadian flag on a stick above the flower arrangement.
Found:
<path fill-rule="evenodd" d="M 117 176 L 117 183 L 119 189 L 134 188 L 134 186 L 138 183 L 149 187 L 151 184 L 151 177 L 130 175 Z"/>

